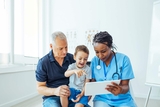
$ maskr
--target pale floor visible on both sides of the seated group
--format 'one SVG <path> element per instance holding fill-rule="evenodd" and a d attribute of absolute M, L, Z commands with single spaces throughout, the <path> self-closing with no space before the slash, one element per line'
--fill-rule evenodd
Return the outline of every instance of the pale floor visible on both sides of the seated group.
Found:
<path fill-rule="evenodd" d="M 136 103 L 138 105 L 138 107 L 144 107 L 145 104 L 145 100 L 144 98 L 135 98 Z M 31 98 L 27 101 L 24 101 L 22 103 L 16 104 L 12 107 L 42 107 L 41 105 L 42 103 L 42 98 L 40 95 Z M 91 104 L 92 105 L 92 104 Z M 159 100 L 153 100 L 150 99 L 148 102 L 148 106 L 147 107 L 160 107 L 160 101 Z"/>

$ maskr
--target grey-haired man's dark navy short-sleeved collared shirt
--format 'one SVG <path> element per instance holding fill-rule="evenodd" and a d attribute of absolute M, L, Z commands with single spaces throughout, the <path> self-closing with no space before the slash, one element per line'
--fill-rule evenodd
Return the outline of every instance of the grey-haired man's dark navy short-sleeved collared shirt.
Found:
<path fill-rule="evenodd" d="M 64 76 L 68 66 L 74 63 L 73 55 L 67 53 L 62 66 L 55 60 L 53 50 L 38 61 L 36 80 L 46 82 L 47 87 L 56 88 L 60 85 L 68 85 L 69 78 Z"/>

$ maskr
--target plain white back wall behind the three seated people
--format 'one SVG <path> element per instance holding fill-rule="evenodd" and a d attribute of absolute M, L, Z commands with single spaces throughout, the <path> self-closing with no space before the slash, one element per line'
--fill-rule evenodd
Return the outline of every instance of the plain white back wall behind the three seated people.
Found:
<path fill-rule="evenodd" d="M 135 96 L 147 96 L 149 87 L 145 85 L 145 78 L 152 0 L 52 0 L 50 6 L 50 33 L 56 30 L 64 33 L 76 31 L 76 40 L 69 40 L 71 53 L 76 45 L 86 44 L 85 31 L 108 31 L 113 36 L 118 51 L 131 59 L 135 73 L 135 79 L 132 80 Z M 94 51 L 91 45 L 88 47 L 91 51 L 90 60 Z M 151 97 L 159 98 L 159 92 L 159 89 L 153 89 Z"/>

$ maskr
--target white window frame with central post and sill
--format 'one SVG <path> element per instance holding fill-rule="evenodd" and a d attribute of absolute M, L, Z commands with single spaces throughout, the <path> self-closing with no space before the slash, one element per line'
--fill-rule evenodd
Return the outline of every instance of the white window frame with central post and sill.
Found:
<path fill-rule="evenodd" d="M 38 35 L 39 35 L 39 28 L 41 27 L 41 24 L 39 24 L 39 13 L 41 10 L 39 4 L 40 4 L 41 0 L 40 1 L 37 1 L 38 3 Z M 3 68 L 3 67 L 9 67 L 9 66 L 13 66 L 13 65 L 35 65 L 37 64 L 38 60 L 39 60 L 39 55 L 37 57 L 32 57 L 32 56 L 25 56 L 24 54 L 21 54 L 21 55 L 18 55 L 18 54 L 15 54 L 15 14 L 14 14 L 14 6 L 15 6 L 15 1 L 14 0 L 5 0 L 4 1 L 4 5 L 5 5 L 5 8 L 6 9 L 6 12 L 8 13 L 8 17 L 9 17 L 9 28 L 8 28 L 8 32 L 9 33 L 9 53 L 0 53 L 0 68 Z M 21 0 L 21 5 L 24 5 L 24 0 Z M 42 11 L 42 10 L 41 10 Z M 24 12 L 24 11 L 23 11 Z M 23 15 L 24 13 L 22 13 Z M 24 23 L 24 21 L 23 21 Z M 23 28 L 21 29 L 23 30 Z M 24 35 L 22 35 L 24 36 Z M 23 37 L 22 37 L 23 38 Z M 38 37 L 38 44 L 40 44 L 40 38 Z M 37 44 L 37 45 L 38 45 Z M 38 53 L 39 53 L 39 47 L 38 48 Z M 22 50 L 23 51 L 23 50 Z"/>

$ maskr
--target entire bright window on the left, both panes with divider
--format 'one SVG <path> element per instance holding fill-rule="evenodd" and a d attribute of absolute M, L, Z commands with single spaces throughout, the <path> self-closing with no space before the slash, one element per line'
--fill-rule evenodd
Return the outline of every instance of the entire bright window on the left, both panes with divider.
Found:
<path fill-rule="evenodd" d="M 0 0 L 0 65 L 37 63 L 38 3 L 38 0 Z"/>

